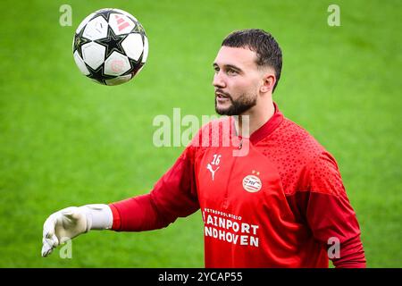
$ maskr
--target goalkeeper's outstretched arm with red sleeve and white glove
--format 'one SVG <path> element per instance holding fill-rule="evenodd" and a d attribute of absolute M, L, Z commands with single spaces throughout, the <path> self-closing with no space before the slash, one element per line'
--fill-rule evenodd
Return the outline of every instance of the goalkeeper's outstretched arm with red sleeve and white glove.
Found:
<path fill-rule="evenodd" d="M 147 195 L 110 205 L 70 206 L 51 214 L 43 227 L 42 256 L 90 230 L 149 231 L 199 208 L 194 172 L 196 148 L 189 146 Z"/>

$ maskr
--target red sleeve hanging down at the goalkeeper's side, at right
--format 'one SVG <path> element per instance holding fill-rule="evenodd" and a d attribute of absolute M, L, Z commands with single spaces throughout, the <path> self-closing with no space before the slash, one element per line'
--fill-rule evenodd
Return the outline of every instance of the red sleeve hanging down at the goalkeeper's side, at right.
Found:
<path fill-rule="evenodd" d="M 365 267 L 360 228 L 338 165 L 328 153 L 322 153 L 306 170 L 306 220 L 314 238 L 331 248 L 329 241 L 339 241 L 339 253 L 330 259 L 335 267 Z M 336 248 L 335 248 L 336 249 Z M 329 249 L 331 253 L 331 249 Z"/>

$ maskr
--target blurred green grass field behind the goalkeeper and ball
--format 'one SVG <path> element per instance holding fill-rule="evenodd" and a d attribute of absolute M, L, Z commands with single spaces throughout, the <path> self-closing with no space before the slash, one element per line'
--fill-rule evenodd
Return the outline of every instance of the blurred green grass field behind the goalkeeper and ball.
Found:
<path fill-rule="evenodd" d="M 72 26 L 59 24 L 70 4 Z M 327 24 L 339 4 L 340 27 Z M 284 63 L 274 100 L 338 160 L 369 267 L 402 266 L 401 1 L 3 1 L 1 267 L 202 267 L 198 212 L 166 229 L 92 231 L 72 258 L 40 257 L 47 215 L 143 194 L 184 147 L 153 145 L 157 114 L 214 114 L 212 63 L 234 29 L 261 28 Z M 147 31 L 130 83 L 86 79 L 71 54 L 89 13 L 115 7 Z"/>

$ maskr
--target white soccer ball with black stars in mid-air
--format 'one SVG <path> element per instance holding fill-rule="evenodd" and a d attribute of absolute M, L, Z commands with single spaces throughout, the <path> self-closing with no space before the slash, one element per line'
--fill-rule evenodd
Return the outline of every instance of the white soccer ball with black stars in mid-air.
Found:
<path fill-rule="evenodd" d="M 101 9 L 81 21 L 72 42 L 80 71 L 108 86 L 131 80 L 147 62 L 145 29 L 130 13 Z"/>

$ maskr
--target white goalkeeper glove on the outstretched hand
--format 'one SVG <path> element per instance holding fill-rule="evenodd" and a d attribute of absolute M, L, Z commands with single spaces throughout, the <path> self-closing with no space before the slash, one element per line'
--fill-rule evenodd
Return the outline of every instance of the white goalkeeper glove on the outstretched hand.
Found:
<path fill-rule="evenodd" d="M 113 214 L 103 204 L 70 206 L 51 214 L 43 225 L 42 257 L 53 249 L 90 230 L 108 230 L 113 225 Z"/>

